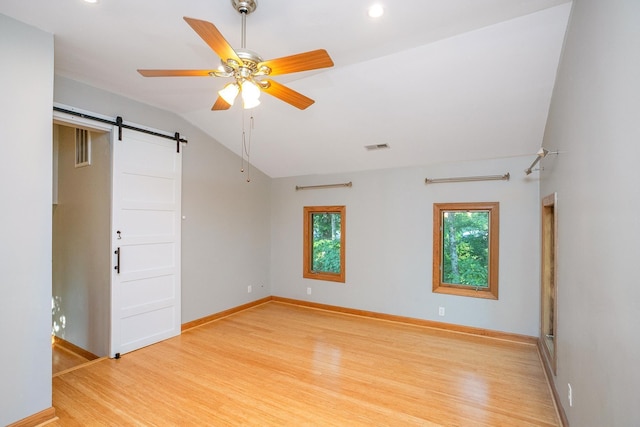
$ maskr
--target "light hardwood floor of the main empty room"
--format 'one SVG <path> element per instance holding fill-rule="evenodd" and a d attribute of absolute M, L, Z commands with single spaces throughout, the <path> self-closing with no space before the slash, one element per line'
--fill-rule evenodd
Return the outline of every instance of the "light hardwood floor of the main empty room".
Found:
<path fill-rule="evenodd" d="M 269 302 L 53 378 L 50 426 L 558 426 L 534 345 Z"/>

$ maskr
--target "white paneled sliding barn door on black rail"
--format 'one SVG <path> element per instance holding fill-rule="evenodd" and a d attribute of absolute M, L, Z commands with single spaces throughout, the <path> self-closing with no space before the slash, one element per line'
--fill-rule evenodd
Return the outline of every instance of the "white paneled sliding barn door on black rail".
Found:
<path fill-rule="evenodd" d="M 182 154 L 114 127 L 110 356 L 180 334 Z"/>

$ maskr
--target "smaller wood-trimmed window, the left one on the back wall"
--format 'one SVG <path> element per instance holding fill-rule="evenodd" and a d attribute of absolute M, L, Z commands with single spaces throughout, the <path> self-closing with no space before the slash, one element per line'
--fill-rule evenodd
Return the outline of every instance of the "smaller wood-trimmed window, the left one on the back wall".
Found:
<path fill-rule="evenodd" d="M 302 276 L 345 281 L 345 206 L 304 207 Z"/>

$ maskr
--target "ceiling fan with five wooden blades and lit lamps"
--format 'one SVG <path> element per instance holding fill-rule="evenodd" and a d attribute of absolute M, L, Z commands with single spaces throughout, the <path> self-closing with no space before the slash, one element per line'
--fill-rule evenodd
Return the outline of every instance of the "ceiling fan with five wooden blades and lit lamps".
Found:
<path fill-rule="evenodd" d="M 212 110 L 228 110 L 240 94 L 244 108 L 260 104 L 260 92 L 266 92 L 296 108 L 304 110 L 315 101 L 288 88 L 270 76 L 297 73 L 319 68 L 332 67 L 333 61 L 324 49 L 299 53 L 277 59 L 263 60 L 260 55 L 246 49 L 246 17 L 256 10 L 257 0 L 231 0 L 234 9 L 242 15 L 242 47 L 233 49 L 222 33 L 210 22 L 184 17 L 184 20 L 198 33 L 220 57 L 221 65 L 214 70 L 138 70 L 145 77 L 231 77 L 218 92 L 218 99 Z"/>

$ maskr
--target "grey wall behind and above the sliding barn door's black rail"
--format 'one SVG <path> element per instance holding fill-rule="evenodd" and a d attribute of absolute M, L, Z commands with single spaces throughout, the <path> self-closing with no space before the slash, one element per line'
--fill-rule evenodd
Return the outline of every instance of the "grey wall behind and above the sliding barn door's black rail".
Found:
<path fill-rule="evenodd" d="M 59 76 L 54 98 L 188 139 L 182 165 L 182 323 L 271 294 L 266 175 L 253 169 L 247 183 L 238 156 L 165 110 Z"/>

